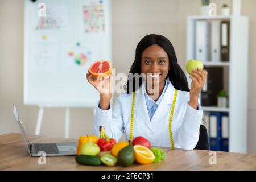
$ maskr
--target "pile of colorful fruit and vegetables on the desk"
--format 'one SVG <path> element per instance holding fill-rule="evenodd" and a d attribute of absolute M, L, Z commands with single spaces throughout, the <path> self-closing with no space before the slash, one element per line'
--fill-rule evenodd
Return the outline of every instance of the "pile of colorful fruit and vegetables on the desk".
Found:
<path fill-rule="evenodd" d="M 89 166 L 121 166 L 127 167 L 137 162 L 139 164 L 159 163 L 166 159 L 166 152 L 158 147 L 152 147 L 143 137 L 136 137 L 131 142 L 116 143 L 109 138 L 104 127 L 100 126 L 100 138 L 94 135 L 81 136 L 77 145 L 76 162 Z"/>

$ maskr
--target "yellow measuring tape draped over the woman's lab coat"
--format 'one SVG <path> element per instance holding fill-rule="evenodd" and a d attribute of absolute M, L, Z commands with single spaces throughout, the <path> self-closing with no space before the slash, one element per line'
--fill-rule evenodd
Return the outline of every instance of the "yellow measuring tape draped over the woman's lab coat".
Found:
<path fill-rule="evenodd" d="M 134 121 L 135 96 L 136 96 L 136 93 L 133 92 L 133 105 L 131 106 L 130 140 L 133 140 L 133 121 Z M 171 108 L 171 113 L 170 113 L 170 117 L 169 117 L 169 135 L 170 135 L 170 142 L 171 142 L 171 147 L 172 148 L 174 148 L 174 140 L 172 139 L 172 116 L 174 115 L 174 107 L 175 107 L 175 103 L 176 103 L 176 98 L 177 98 L 177 89 L 175 89 L 174 100 L 172 101 L 172 108 Z"/>

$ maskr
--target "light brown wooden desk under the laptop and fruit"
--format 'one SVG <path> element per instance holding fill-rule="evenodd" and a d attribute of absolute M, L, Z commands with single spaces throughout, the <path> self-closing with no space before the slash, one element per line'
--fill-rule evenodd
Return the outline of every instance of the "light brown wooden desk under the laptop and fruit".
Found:
<path fill-rule="evenodd" d="M 67 142 L 76 139 L 28 135 L 31 142 Z M 217 152 L 217 164 L 210 165 L 209 151 L 183 151 L 164 148 L 167 159 L 148 165 L 133 164 L 129 167 L 83 166 L 75 156 L 46 157 L 46 165 L 39 165 L 37 157 L 30 157 L 22 135 L 0 135 L 0 170 L 256 170 L 256 155 Z"/>

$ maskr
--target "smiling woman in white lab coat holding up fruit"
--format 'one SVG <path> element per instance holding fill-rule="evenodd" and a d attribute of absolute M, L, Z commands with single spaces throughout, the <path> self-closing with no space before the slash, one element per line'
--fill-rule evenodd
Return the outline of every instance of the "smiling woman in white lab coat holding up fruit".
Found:
<path fill-rule="evenodd" d="M 130 76 L 126 93 L 120 94 L 112 107 L 113 72 L 108 80 L 99 80 L 88 71 L 88 81 L 100 92 L 94 134 L 99 135 L 99 126 L 104 126 L 106 133 L 117 141 L 125 133 L 127 140 L 142 136 L 152 146 L 193 150 L 203 115 L 198 97 L 207 72 L 195 69 L 189 90 L 170 40 L 151 34 L 138 43 L 129 73 L 143 76 L 139 85 L 133 82 L 134 75 Z M 102 81 L 109 84 L 100 84 Z"/>

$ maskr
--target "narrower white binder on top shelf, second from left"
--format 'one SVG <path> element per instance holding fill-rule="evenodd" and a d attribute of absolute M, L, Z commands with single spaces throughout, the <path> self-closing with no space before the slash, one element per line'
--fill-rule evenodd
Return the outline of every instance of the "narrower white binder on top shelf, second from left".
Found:
<path fill-rule="evenodd" d="M 211 61 L 221 61 L 221 20 L 212 20 L 211 24 Z"/>

